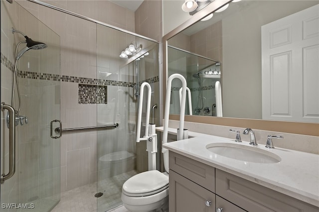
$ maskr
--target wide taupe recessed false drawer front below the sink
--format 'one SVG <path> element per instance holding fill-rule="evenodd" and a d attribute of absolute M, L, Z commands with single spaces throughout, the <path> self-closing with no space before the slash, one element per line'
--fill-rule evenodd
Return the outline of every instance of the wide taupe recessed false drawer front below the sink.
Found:
<path fill-rule="evenodd" d="M 219 169 L 216 194 L 250 212 L 319 212 L 318 207 Z"/>

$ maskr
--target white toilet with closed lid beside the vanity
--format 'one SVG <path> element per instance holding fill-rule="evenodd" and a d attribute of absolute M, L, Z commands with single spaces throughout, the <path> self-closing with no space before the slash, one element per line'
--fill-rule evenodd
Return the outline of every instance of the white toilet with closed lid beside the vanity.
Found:
<path fill-rule="evenodd" d="M 167 165 L 168 151 L 164 153 L 163 160 Z M 121 198 L 127 210 L 168 212 L 168 166 L 164 167 L 166 171 L 164 173 L 158 170 L 142 172 L 123 184 Z"/>

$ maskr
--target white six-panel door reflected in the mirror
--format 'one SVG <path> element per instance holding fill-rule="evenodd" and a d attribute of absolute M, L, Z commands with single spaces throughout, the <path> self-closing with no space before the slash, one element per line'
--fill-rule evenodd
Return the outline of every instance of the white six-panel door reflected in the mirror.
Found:
<path fill-rule="evenodd" d="M 262 30 L 262 117 L 319 122 L 319 4 Z"/>

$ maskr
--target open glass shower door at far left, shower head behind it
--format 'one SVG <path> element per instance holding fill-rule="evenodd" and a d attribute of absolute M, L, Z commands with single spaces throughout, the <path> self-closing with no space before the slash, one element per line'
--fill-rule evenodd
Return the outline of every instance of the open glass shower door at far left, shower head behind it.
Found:
<path fill-rule="evenodd" d="M 60 119 L 60 37 L 16 1 L 1 1 L 1 102 L 6 105 L 11 105 L 15 47 L 25 40 L 12 27 L 47 47 L 30 49 L 16 62 L 21 110 L 15 116 L 15 173 L 0 184 L 0 211 L 48 212 L 60 200 L 60 139 L 54 132 L 59 124 L 52 122 L 53 138 L 50 130 L 50 122 Z M 11 106 L 17 109 L 17 103 L 16 90 Z M 12 153 L 6 116 L 1 111 L 1 174 L 8 172 Z"/>

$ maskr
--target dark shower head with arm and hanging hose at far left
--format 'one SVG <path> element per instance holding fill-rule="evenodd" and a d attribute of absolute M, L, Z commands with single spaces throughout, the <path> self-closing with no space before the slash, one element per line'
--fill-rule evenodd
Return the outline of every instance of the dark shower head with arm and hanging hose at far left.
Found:
<path fill-rule="evenodd" d="M 38 49 L 44 49 L 47 47 L 47 45 L 45 43 L 39 42 L 39 41 L 33 41 L 31 38 L 29 38 L 28 36 L 26 36 L 23 32 L 18 31 L 16 29 L 14 29 L 13 27 L 11 28 L 12 33 L 19 33 L 21 35 L 23 35 L 23 37 L 25 38 L 25 41 L 22 40 L 20 42 L 18 42 L 18 44 L 16 45 L 15 48 L 15 61 L 14 61 L 14 73 L 13 73 L 13 83 L 12 83 L 12 96 L 11 96 L 11 106 L 13 106 L 13 102 L 14 102 L 14 91 L 15 91 L 15 83 L 16 83 L 16 91 L 18 93 L 18 109 L 15 110 L 14 114 L 17 115 L 20 112 L 21 109 L 21 95 L 20 95 L 20 90 L 19 90 L 19 84 L 18 84 L 18 74 L 16 71 L 16 64 L 18 62 L 18 60 L 20 59 L 20 57 L 28 50 L 30 49 L 34 49 L 34 50 L 38 50 Z M 19 52 L 17 52 L 18 47 L 21 43 L 26 43 L 26 47 L 24 47 L 23 49 L 21 49 Z"/>

